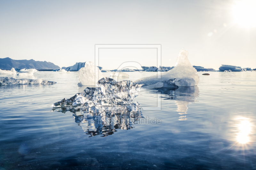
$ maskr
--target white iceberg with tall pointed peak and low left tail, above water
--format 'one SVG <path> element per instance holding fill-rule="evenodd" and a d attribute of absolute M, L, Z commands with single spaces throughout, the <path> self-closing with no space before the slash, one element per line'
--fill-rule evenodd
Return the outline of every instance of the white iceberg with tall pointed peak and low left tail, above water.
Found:
<path fill-rule="evenodd" d="M 165 82 L 163 87 L 175 87 L 174 85 L 189 87 L 198 85 L 199 76 L 197 75 L 196 69 L 188 60 L 187 50 L 180 50 L 175 67 L 172 70 L 161 73 L 161 78 L 157 78 L 157 75 L 154 75 L 141 78 L 134 83 L 147 86 L 157 82 Z"/>

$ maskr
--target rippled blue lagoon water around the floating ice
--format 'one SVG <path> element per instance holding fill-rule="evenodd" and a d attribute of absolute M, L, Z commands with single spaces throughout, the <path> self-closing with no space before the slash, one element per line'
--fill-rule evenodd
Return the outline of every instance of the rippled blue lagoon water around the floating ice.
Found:
<path fill-rule="evenodd" d="M 27 77 L 54 85 L 1 86 L 0 169 L 255 169 L 256 72 L 209 73 L 198 72 L 197 87 L 140 92 L 142 116 L 161 123 L 95 136 L 74 113 L 52 111 L 84 90 L 75 72 Z"/>

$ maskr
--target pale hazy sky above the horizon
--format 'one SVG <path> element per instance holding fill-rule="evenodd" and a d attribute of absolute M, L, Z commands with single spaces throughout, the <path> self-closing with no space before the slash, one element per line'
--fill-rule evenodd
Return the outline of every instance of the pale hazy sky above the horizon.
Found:
<path fill-rule="evenodd" d="M 192 65 L 256 68 L 255 0 L 0 0 L 0 58 L 68 67 L 95 61 L 95 44 L 160 44 L 161 65 L 188 50 Z M 103 70 L 156 66 L 156 49 L 100 49 Z"/>

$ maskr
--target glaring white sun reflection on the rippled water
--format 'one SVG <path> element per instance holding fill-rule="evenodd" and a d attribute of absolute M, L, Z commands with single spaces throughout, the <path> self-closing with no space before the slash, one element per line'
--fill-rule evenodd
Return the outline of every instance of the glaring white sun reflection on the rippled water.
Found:
<path fill-rule="evenodd" d="M 238 133 L 236 141 L 240 144 L 247 144 L 250 142 L 249 135 L 252 133 L 252 124 L 247 118 L 240 118 L 240 123 L 237 124 Z"/>

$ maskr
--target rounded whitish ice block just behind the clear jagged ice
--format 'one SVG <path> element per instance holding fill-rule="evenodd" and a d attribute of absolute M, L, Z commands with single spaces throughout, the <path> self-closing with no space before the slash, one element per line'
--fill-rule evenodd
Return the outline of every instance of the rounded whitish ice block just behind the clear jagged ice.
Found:
<path fill-rule="evenodd" d="M 83 68 L 77 71 L 79 83 L 78 85 L 93 85 L 95 86 L 95 78 L 101 79 L 105 75 L 100 71 L 98 67 L 92 62 L 85 62 Z"/>

